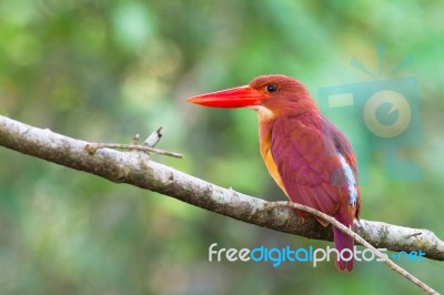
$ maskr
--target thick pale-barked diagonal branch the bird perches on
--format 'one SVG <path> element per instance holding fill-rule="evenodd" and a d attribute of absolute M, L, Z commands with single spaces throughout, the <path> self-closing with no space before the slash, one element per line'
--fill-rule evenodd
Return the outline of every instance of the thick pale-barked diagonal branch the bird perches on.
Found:
<path fill-rule="evenodd" d="M 330 226 L 321 226 L 311 216 L 302 222 L 290 208 L 271 210 L 270 202 L 188 175 L 150 160 L 145 153 L 100 149 L 91 154 L 88 144 L 91 143 L 0 115 L 0 145 L 11 150 L 115 183 L 169 195 L 259 226 L 307 238 L 333 240 Z M 355 223 L 354 231 L 375 247 L 395 252 L 421 250 L 427 258 L 444 261 L 444 242 L 428 230 L 361 220 L 360 224 Z"/>

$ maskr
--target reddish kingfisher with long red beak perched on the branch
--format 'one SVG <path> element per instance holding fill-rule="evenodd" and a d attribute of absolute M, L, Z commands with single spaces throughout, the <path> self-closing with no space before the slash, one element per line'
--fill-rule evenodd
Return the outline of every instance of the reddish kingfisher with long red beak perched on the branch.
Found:
<path fill-rule="evenodd" d="M 248 85 L 195 95 L 188 102 L 256 112 L 260 153 L 270 175 L 291 202 L 321 211 L 346 227 L 359 221 L 357 163 L 344 133 L 323 116 L 302 82 L 282 74 L 260 75 Z M 303 220 L 303 213 L 296 211 Z M 329 223 L 316 217 L 323 226 Z M 333 227 L 341 272 L 353 269 L 353 237 Z M 352 252 L 350 252 L 352 251 Z"/>

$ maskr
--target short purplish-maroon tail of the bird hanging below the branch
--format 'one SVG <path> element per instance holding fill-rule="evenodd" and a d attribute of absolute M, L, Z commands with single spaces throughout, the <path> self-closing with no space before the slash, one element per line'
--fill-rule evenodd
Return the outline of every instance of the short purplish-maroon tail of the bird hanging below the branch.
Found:
<path fill-rule="evenodd" d="M 352 221 L 344 221 L 340 214 L 334 216 L 339 222 L 352 228 Z M 336 267 L 341 272 L 352 272 L 354 261 L 354 240 L 350 235 L 341 232 L 336 227 L 333 228 L 334 234 L 334 247 L 337 250 L 339 255 L 336 256 Z M 345 251 L 346 250 L 346 251 Z"/>

